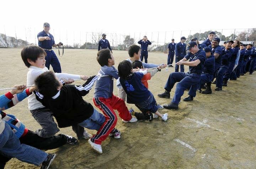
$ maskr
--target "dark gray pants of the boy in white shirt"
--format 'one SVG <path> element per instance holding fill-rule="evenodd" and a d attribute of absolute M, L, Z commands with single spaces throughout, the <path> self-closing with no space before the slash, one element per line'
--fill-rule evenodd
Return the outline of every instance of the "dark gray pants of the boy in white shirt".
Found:
<path fill-rule="evenodd" d="M 37 135 L 48 138 L 59 132 L 57 124 L 53 120 L 53 113 L 46 107 L 30 110 L 34 119 L 42 126 L 36 130 Z"/>

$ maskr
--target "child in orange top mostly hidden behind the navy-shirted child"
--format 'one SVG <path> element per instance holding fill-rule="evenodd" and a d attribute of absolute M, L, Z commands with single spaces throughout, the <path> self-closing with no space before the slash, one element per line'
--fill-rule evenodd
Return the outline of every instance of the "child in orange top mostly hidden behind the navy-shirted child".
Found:
<path fill-rule="evenodd" d="M 162 68 L 165 68 L 165 65 L 159 65 L 158 68 L 150 70 L 147 74 L 145 74 L 142 77 L 142 84 L 144 84 L 144 86 L 148 89 L 148 80 L 151 79 L 151 77 L 153 77 L 156 72 L 160 71 Z M 144 69 L 142 62 L 140 62 L 139 60 L 134 60 L 134 62 L 132 63 L 132 68 L 136 69 L 136 68 L 140 68 L 140 69 Z M 156 103 L 156 106 L 158 107 L 158 109 L 164 109 L 163 106 L 161 106 L 160 104 Z M 154 114 L 154 117 L 157 118 Z"/>

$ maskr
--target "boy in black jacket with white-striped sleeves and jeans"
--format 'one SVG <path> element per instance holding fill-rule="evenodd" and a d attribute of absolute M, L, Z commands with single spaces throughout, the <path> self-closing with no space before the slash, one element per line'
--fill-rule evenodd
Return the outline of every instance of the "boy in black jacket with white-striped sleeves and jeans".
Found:
<path fill-rule="evenodd" d="M 82 86 L 65 85 L 53 72 L 44 72 L 35 80 L 38 88 L 35 92 L 36 99 L 53 112 L 60 128 L 78 124 L 81 127 L 99 130 L 105 122 L 105 117 L 82 99 L 82 96 L 89 93 L 97 78 L 90 77 Z M 101 148 L 94 149 L 102 153 Z"/>

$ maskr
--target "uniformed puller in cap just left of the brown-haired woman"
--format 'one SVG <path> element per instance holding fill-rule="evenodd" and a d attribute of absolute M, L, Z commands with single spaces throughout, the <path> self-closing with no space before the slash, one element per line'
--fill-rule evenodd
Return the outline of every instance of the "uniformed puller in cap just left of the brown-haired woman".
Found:
<path fill-rule="evenodd" d="M 223 85 L 223 75 L 226 70 L 229 68 L 230 57 L 233 54 L 233 49 L 231 49 L 231 45 L 234 41 L 227 41 L 225 48 L 222 50 L 222 64 L 216 73 L 216 87 L 215 91 L 221 91 Z"/>

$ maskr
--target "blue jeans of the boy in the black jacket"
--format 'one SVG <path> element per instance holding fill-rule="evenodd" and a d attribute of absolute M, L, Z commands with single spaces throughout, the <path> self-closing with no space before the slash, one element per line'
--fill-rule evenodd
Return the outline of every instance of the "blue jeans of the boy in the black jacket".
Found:
<path fill-rule="evenodd" d="M 104 122 L 105 116 L 99 113 L 96 109 L 94 109 L 91 117 L 79 123 L 79 126 L 98 131 Z"/>

